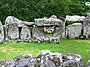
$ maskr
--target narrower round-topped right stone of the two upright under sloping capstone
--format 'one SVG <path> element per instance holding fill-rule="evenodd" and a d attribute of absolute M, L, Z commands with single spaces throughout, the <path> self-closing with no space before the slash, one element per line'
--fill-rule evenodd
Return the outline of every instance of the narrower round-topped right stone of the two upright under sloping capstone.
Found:
<path fill-rule="evenodd" d="M 21 39 L 26 40 L 27 38 L 31 38 L 30 29 L 27 26 L 23 26 L 20 34 Z"/>

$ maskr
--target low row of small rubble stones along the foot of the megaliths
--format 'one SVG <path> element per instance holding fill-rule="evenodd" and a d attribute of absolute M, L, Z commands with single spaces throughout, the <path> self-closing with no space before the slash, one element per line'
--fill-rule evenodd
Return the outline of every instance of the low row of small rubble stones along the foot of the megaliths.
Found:
<path fill-rule="evenodd" d="M 13 43 L 19 43 L 19 42 L 26 42 L 26 43 L 60 43 L 60 37 L 37 37 L 34 39 L 17 39 L 17 40 L 11 40 Z M 0 43 L 2 44 L 3 41 L 0 41 Z"/>

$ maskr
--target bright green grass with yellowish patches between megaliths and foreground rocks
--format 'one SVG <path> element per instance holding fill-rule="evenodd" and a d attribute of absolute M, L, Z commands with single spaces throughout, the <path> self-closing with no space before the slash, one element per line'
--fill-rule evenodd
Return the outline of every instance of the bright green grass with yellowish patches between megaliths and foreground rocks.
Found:
<path fill-rule="evenodd" d="M 90 40 L 61 40 L 55 43 L 16 43 L 5 42 L 0 45 L 0 59 L 10 59 L 22 54 L 37 56 L 41 50 L 50 50 L 62 54 L 76 53 L 83 57 L 86 63 L 90 59 Z"/>

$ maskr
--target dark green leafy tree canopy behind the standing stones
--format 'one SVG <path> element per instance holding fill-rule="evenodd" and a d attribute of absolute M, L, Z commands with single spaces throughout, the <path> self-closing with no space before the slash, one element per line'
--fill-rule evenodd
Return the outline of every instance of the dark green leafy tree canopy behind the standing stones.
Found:
<path fill-rule="evenodd" d="M 90 7 L 82 2 L 87 0 L 0 0 L 0 20 L 4 23 L 9 15 L 24 21 L 51 15 L 86 15 Z"/>

